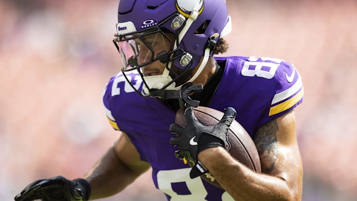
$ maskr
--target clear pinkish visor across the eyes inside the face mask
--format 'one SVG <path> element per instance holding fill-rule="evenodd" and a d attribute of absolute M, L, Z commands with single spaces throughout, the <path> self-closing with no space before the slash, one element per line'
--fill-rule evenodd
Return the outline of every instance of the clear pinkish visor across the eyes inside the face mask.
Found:
<path fill-rule="evenodd" d="M 123 70 L 143 67 L 157 61 L 157 54 L 169 52 L 172 40 L 162 32 L 128 35 L 116 41 Z"/>

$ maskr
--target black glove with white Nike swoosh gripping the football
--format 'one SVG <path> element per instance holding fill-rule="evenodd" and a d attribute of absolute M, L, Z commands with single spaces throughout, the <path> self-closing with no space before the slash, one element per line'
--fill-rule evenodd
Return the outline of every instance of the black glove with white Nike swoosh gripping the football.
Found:
<path fill-rule="evenodd" d="M 190 173 L 191 178 L 194 178 L 199 176 L 195 173 L 197 170 L 199 170 L 200 174 L 207 172 L 203 165 L 197 160 L 197 155 L 200 151 L 217 146 L 222 146 L 226 149 L 229 148 L 227 134 L 237 112 L 234 108 L 228 107 L 219 123 L 214 126 L 204 126 L 198 122 L 192 110 L 192 107 L 185 110 L 187 122 L 185 128 L 177 124 L 170 125 L 170 132 L 178 134 L 178 137 L 171 138 L 170 143 L 180 147 L 180 149 L 175 152 L 177 157 L 185 157 L 195 164 Z"/>

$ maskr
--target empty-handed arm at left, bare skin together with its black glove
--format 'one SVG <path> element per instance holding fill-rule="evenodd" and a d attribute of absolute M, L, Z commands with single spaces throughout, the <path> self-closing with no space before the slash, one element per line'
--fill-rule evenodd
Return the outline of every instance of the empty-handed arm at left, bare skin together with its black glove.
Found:
<path fill-rule="evenodd" d="M 122 134 L 84 179 L 57 176 L 36 180 L 16 195 L 15 201 L 87 201 L 108 197 L 123 190 L 148 168 L 148 163 L 140 160 L 134 145 Z"/>

